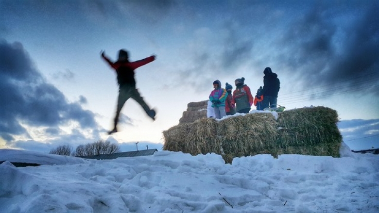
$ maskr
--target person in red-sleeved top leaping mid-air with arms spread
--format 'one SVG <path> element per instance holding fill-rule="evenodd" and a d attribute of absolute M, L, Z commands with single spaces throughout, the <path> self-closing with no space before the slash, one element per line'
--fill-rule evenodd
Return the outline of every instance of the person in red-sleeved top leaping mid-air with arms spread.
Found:
<path fill-rule="evenodd" d="M 110 61 L 105 56 L 105 51 L 101 52 L 103 59 L 112 66 L 117 73 L 117 81 L 119 83 L 119 98 L 117 104 L 116 116 L 114 119 L 114 128 L 108 131 L 109 134 L 117 132 L 117 123 L 119 122 L 119 116 L 123 105 L 129 98 L 135 99 L 139 105 L 145 110 L 146 114 L 149 115 L 153 120 L 155 120 L 155 110 L 150 109 L 150 107 L 143 100 L 136 88 L 136 80 L 134 78 L 134 70 L 140 66 L 146 65 L 155 60 L 155 55 L 138 60 L 135 62 L 129 62 L 129 55 L 125 49 L 120 49 L 119 60 L 117 62 Z"/>

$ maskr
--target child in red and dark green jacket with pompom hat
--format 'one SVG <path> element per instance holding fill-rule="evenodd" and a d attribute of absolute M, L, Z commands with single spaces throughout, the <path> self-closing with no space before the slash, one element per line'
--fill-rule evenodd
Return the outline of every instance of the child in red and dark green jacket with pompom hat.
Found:
<path fill-rule="evenodd" d="M 236 79 L 236 89 L 233 92 L 233 104 L 236 104 L 237 113 L 249 113 L 251 105 L 254 103 L 253 95 L 251 95 L 250 87 L 243 82 L 245 78 Z"/>

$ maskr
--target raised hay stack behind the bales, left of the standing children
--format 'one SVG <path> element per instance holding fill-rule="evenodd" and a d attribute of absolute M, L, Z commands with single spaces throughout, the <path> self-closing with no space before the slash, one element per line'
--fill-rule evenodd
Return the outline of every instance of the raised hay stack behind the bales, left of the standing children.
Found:
<path fill-rule="evenodd" d="M 207 117 L 208 100 L 200 102 L 190 102 L 187 104 L 187 111 L 183 112 L 179 119 L 179 124 L 192 123 L 198 119 Z"/>

